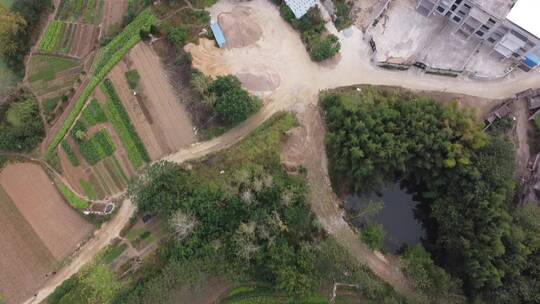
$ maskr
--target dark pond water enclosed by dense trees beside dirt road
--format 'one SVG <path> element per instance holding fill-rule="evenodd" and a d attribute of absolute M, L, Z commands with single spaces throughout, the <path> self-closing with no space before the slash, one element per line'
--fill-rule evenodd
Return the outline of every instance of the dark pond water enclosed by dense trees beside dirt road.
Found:
<path fill-rule="evenodd" d="M 384 227 L 385 249 L 388 251 L 395 252 L 403 244 L 414 246 L 420 243 L 424 230 L 422 224 L 414 216 L 414 208 L 418 202 L 413 200 L 413 195 L 401 189 L 399 183 L 383 188 L 380 194 L 381 196 L 376 194 L 348 195 L 345 206 L 347 209 L 358 210 L 369 201 L 384 202 L 384 209 L 370 219 L 371 222 Z M 354 224 L 360 227 L 365 222 L 365 219 L 358 219 Z"/>

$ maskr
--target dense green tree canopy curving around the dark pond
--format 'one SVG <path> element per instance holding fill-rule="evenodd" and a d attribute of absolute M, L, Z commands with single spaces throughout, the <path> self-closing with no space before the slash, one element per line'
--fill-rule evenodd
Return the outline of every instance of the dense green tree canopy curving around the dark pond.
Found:
<path fill-rule="evenodd" d="M 456 104 L 408 93 L 365 88 L 325 93 L 321 102 L 334 184 L 362 192 L 404 178 L 421 197 L 435 260 L 475 299 L 504 290 L 511 277 L 505 260 L 525 258 L 511 250 L 515 242 L 527 247 L 511 229 L 508 208 L 513 145 L 483 133 Z"/>

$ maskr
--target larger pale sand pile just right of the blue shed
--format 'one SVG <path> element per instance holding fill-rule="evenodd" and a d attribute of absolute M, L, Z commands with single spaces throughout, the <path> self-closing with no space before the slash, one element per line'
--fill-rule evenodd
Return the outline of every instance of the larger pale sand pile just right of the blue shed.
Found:
<path fill-rule="evenodd" d="M 252 19 L 251 9 L 245 6 L 237 6 L 231 12 L 221 13 L 218 22 L 229 48 L 252 45 L 262 36 L 261 27 Z"/>

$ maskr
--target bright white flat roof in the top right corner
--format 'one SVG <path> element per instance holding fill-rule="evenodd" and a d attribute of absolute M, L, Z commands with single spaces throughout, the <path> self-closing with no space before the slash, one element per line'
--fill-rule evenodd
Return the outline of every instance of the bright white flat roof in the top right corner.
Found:
<path fill-rule="evenodd" d="M 518 0 L 506 19 L 540 38 L 540 1 Z"/>

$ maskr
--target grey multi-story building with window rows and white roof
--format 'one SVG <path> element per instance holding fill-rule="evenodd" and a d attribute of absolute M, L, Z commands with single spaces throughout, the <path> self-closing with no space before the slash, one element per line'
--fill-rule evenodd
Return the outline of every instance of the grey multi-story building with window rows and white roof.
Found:
<path fill-rule="evenodd" d="M 446 16 L 463 39 L 480 39 L 525 71 L 540 65 L 540 0 L 418 0 L 417 11 Z"/>

